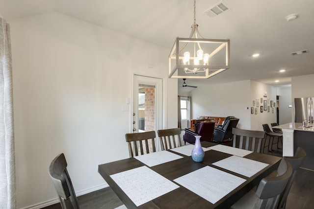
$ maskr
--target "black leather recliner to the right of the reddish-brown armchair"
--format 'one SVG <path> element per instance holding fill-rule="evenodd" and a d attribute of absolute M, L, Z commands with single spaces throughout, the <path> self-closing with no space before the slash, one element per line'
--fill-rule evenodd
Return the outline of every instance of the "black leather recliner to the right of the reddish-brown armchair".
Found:
<path fill-rule="evenodd" d="M 236 127 L 238 121 L 239 118 L 236 118 L 235 116 L 226 117 L 223 125 L 218 125 L 217 127 L 214 128 L 213 140 L 217 142 L 231 140 L 233 137 L 232 128 Z"/>

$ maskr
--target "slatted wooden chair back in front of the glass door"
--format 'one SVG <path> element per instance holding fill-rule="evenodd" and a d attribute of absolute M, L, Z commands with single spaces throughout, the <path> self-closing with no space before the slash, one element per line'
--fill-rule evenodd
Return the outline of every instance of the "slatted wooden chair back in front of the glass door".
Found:
<path fill-rule="evenodd" d="M 126 134 L 130 157 L 138 156 L 139 153 L 140 155 L 144 155 L 151 152 L 156 152 L 155 138 L 155 131 Z M 149 145 L 151 145 L 151 148 Z"/>

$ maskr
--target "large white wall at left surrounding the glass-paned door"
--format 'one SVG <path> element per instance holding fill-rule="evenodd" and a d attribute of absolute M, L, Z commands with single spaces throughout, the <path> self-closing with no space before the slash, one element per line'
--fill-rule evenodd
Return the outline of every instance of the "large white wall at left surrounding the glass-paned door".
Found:
<path fill-rule="evenodd" d="M 18 209 L 57 200 L 48 167 L 61 152 L 78 195 L 106 186 L 97 165 L 129 157 L 133 72 L 164 79 L 164 126 L 177 126 L 168 49 L 59 13 L 9 23 Z"/>

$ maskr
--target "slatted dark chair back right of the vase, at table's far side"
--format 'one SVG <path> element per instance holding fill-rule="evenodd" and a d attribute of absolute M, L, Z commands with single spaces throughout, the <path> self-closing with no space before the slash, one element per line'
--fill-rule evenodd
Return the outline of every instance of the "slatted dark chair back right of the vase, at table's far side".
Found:
<path fill-rule="evenodd" d="M 232 134 L 234 135 L 233 147 L 261 152 L 265 132 L 233 128 Z"/>

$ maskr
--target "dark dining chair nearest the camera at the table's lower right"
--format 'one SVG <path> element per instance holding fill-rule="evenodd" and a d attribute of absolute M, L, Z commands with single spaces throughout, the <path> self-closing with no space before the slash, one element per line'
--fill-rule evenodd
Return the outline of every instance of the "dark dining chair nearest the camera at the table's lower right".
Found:
<path fill-rule="evenodd" d="M 276 209 L 291 174 L 292 166 L 283 158 L 277 169 L 277 176 L 263 178 L 256 192 L 250 190 L 230 209 Z"/>

